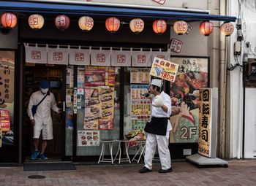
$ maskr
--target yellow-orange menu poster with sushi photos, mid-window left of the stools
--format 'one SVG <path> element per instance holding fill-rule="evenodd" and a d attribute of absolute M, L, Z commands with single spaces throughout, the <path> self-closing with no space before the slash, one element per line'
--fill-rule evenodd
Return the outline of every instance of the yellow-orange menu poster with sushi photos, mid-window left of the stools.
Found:
<path fill-rule="evenodd" d="M 85 89 L 84 129 L 113 129 L 113 112 L 114 88 L 90 87 Z"/>

